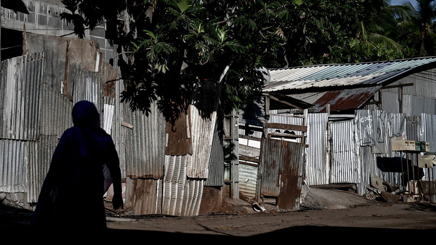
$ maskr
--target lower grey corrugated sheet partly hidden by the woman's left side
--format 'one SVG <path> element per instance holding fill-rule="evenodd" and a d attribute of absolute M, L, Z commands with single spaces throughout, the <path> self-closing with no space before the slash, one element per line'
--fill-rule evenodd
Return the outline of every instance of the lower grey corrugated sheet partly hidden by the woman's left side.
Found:
<path fill-rule="evenodd" d="M 50 167 L 51 158 L 58 145 L 58 136 L 41 135 L 39 142 L 30 144 L 28 202 L 37 202 L 42 184 Z"/>

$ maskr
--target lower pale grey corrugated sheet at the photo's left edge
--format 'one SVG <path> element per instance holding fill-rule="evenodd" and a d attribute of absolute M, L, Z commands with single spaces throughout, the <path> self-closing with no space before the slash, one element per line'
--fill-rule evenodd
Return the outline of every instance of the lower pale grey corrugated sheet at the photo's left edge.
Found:
<path fill-rule="evenodd" d="M 29 144 L 0 140 L 0 192 L 27 192 Z"/>

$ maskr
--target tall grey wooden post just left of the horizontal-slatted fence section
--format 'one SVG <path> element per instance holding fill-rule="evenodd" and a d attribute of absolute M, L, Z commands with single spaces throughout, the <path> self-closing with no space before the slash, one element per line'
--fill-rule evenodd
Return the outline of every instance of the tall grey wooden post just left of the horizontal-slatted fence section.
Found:
<path fill-rule="evenodd" d="M 230 161 L 230 198 L 239 199 L 239 119 L 236 109 L 232 109 L 230 118 L 231 161 Z"/>

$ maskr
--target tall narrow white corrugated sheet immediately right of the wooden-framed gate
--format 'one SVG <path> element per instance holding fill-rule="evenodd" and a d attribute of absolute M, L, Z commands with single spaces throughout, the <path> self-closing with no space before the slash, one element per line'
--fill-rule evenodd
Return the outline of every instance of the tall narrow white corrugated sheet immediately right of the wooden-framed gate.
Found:
<path fill-rule="evenodd" d="M 306 183 L 328 184 L 330 162 L 327 154 L 327 113 L 307 115 Z"/>

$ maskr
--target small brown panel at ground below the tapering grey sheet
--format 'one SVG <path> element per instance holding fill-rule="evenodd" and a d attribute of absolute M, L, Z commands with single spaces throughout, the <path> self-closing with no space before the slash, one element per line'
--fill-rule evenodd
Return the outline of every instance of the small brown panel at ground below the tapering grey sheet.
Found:
<path fill-rule="evenodd" d="M 199 215 L 218 212 L 222 212 L 222 187 L 205 186 Z"/>

